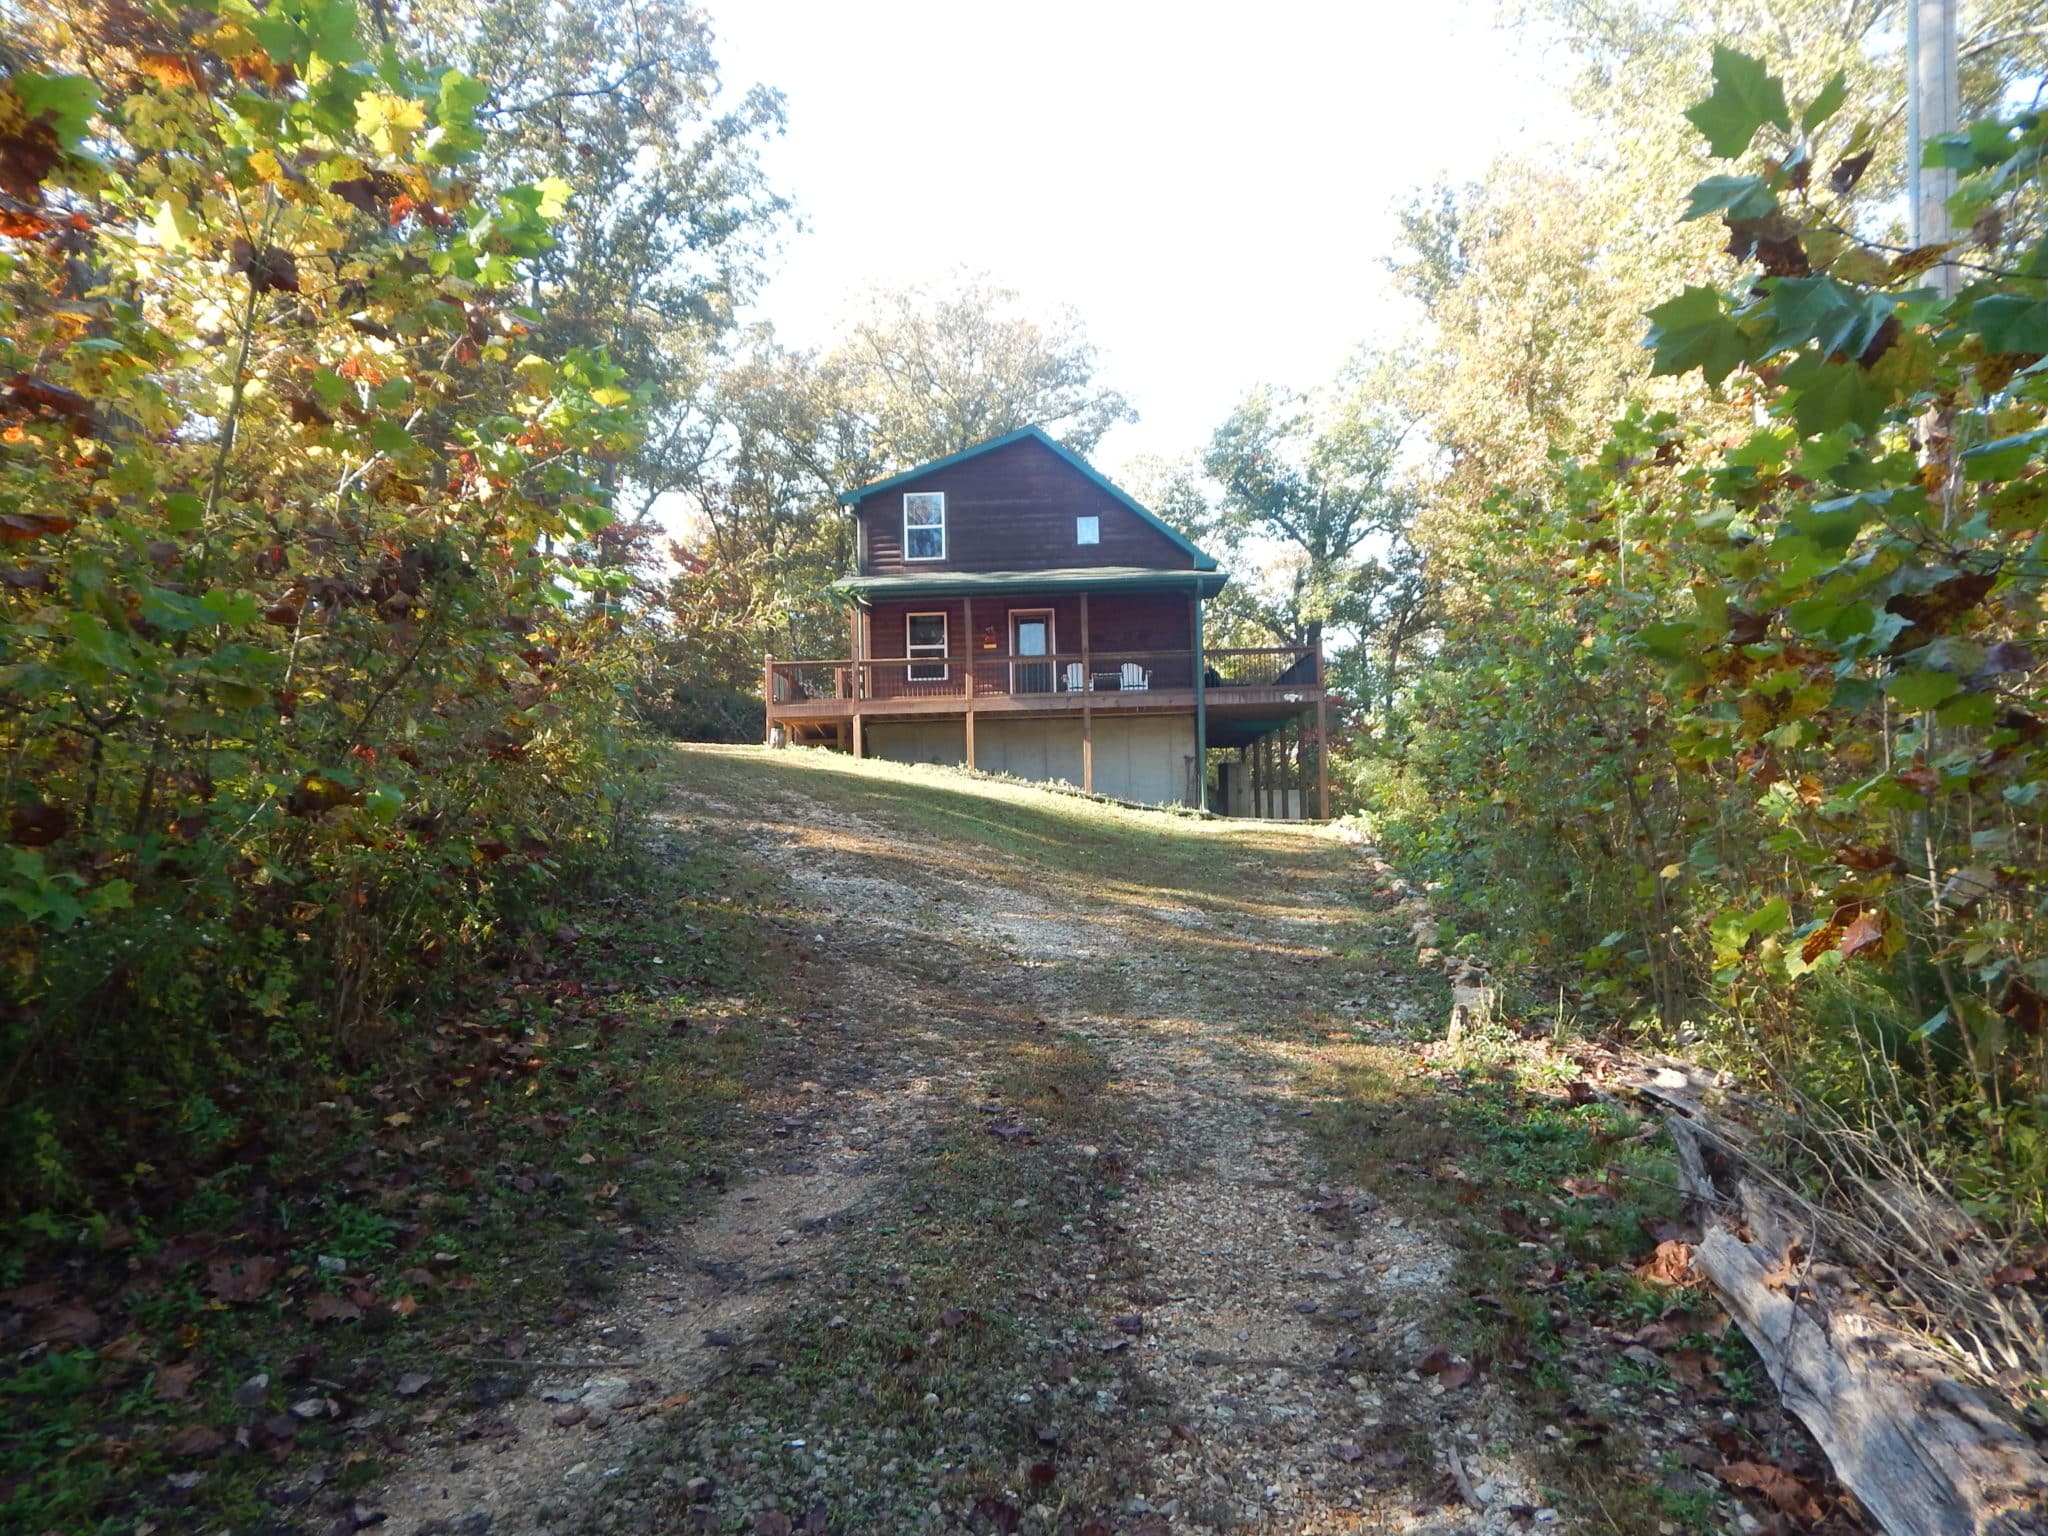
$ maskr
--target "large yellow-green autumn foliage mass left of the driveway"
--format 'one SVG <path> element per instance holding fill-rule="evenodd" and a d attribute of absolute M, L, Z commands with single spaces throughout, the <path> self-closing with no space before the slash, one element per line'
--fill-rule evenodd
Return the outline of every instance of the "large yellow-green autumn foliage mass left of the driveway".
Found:
<path fill-rule="evenodd" d="M 0 1159 L 207 1159 L 612 838 L 608 463 L 522 346 L 561 184 L 344 0 L 49 23 L 0 86 Z M 528 295 L 530 297 L 530 295 Z"/>

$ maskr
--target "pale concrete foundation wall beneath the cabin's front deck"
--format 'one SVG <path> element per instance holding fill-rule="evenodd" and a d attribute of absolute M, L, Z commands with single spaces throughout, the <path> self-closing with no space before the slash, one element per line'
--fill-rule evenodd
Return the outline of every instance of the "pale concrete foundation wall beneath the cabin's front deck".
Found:
<path fill-rule="evenodd" d="M 1194 791 L 1194 715 L 1096 719 L 1096 793 L 1186 805 Z M 963 721 L 881 721 L 866 752 L 889 762 L 967 762 Z M 1038 782 L 1081 784 L 1081 721 L 977 719 L 975 766 Z"/>

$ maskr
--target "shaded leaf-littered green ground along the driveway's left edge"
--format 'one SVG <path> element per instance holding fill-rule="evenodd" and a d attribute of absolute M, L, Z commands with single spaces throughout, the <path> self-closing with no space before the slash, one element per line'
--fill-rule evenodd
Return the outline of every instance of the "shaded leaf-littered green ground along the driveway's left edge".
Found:
<path fill-rule="evenodd" d="M 653 836 L 291 1116 L 229 1098 L 211 1157 L 12 1223 L 0 1526 L 332 1505 L 414 1425 L 516 1395 L 633 1235 L 723 1182 L 799 1051 L 754 969 L 780 948 L 758 877 Z"/>

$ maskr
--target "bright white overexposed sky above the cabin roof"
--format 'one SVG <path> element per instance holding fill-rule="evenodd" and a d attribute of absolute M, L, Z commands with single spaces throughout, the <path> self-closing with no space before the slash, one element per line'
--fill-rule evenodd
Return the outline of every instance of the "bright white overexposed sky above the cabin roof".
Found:
<path fill-rule="evenodd" d="M 752 317 L 817 346 L 868 287 L 956 268 L 1071 305 L 1143 418 L 1110 475 L 1389 336 L 1409 188 L 1569 135 L 1561 68 L 1491 0 L 709 4 L 723 78 L 788 96 L 764 160 L 805 229 Z"/>

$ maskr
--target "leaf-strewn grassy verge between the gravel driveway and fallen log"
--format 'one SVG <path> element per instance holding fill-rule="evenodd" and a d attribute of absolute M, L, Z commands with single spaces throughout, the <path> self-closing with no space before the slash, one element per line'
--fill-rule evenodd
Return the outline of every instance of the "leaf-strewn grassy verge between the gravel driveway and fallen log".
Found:
<path fill-rule="evenodd" d="M 1595 1094 L 1569 1051 L 1507 1030 L 1460 1053 L 1325 1047 L 1321 1063 L 1303 1087 L 1333 1174 L 1419 1204 L 1456 1249 L 1440 1319 L 1456 1358 L 1397 1364 L 1454 1391 L 1511 1384 L 1548 1421 L 1532 1454 L 1550 1493 L 1591 1530 L 1720 1532 L 1745 1509 L 1776 1530 L 1784 1503 L 1737 1495 L 1772 1468 L 1755 1477 L 1810 1516 L 1800 1530 L 1862 1532 L 1696 1280 L 1653 1122 Z"/>

